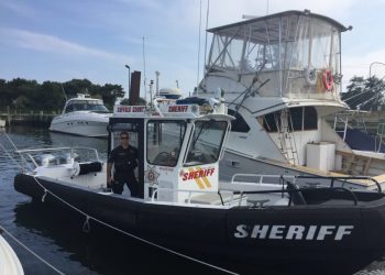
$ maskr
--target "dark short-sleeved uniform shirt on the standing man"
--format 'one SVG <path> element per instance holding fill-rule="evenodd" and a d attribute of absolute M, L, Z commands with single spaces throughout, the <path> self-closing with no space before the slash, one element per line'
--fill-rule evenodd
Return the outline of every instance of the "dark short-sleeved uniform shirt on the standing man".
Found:
<path fill-rule="evenodd" d="M 138 166 L 138 148 L 129 145 L 123 148 L 119 145 L 111 151 L 108 163 L 114 165 L 116 174 L 131 174 Z"/>

